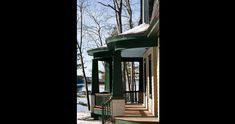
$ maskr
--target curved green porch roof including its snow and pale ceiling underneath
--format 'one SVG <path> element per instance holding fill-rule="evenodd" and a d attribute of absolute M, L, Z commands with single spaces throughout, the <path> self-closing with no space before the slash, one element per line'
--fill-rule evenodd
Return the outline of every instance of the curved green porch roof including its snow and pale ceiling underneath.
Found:
<path fill-rule="evenodd" d="M 121 50 L 122 57 L 140 57 L 135 52 L 144 51 L 146 47 L 157 46 L 157 38 L 159 37 L 159 18 L 154 18 L 150 25 L 142 25 L 136 27 L 121 35 L 109 37 L 106 39 L 107 47 L 99 47 L 87 51 L 88 55 L 94 56 L 96 59 L 104 59 L 112 57 L 114 51 Z M 136 50 L 131 50 L 136 49 Z M 127 52 L 132 51 L 133 54 L 127 55 Z M 142 52 L 139 52 L 142 54 Z"/>

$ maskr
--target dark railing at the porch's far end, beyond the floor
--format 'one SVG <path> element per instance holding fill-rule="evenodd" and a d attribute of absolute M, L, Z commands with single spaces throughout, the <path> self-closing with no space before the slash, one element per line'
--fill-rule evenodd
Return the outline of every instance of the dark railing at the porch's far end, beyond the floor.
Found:
<path fill-rule="evenodd" d="M 128 103 L 143 103 L 142 92 L 140 91 L 124 91 L 125 102 Z"/>

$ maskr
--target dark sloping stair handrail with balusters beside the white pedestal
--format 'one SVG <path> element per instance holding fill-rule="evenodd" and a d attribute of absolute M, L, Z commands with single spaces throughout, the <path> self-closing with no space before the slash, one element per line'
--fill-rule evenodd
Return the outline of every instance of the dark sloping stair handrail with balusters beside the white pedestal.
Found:
<path fill-rule="evenodd" d="M 110 102 L 112 101 L 112 97 L 110 97 L 107 101 L 102 104 L 102 124 L 104 124 L 107 120 L 111 118 L 111 108 Z"/>

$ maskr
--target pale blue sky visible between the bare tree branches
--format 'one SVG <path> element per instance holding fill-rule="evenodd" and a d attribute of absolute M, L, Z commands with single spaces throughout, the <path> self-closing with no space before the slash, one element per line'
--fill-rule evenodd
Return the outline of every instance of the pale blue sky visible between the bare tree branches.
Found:
<path fill-rule="evenodd" d="M 102 2 L 104 4 L 110 4 L 113 5 L 112 0 L 85 0 L 86 1 L 86 5 L 88 5 L 86 7 L 86 10 L 83 14 L 83 23 L 84 25 L 90 26 L 95 28 L 96 25 L 94 23 L 94 21 L 88 16 L 88 13 L 95 15 L 96 18 L 100 21 L 100 24 L 102 26 L 105 26 L 105 28 L 103 27 L 101 30 L 101 34 L 102 34 L 102 40 L 105 41 L 105 39 L 107 37 L 110 36 L 110 33 L 112 30 L 110 30 L 111 27 L 114 27 L 116 25 L 115 22 L 115 14 L 114 11 L 109 8 L 109 7 L 105 7 L 101 4 L 99 4 L 98 2 Z M 138 20 L 139 20 L 139 16 L 140 16 L 140 0 L 130 0 L 131 2 L 131 7 L 132 7 L 132 11 L 133 11 L 133 21 L 134 21 L 134 27 L 137 26 Z M 79 4 L 79 0 L 78 0 L 78 4 Z M 78 10 L 78 16 L 79 17 L 80 13 L 79 13 L 79 8 L 77 8 Z M 125 15 L 125 12 L 123 11 L 123 15 Z M 127 22 L 127 20 L 125 18 L 123 18 L 123 24 L 127 24 L 125 22 Z M 78 41 L 80 41 L 80 19 L 78 19 L 78 23 L 77 23 L 77 38 Z M 123 27 L 123 31 L 128 30 L 127 26 Z M 91 39 L 91 36 L 86 35 L 88 33 L 84 33 L 83 35 L 83 56 L 84 56 L 84 63 L 85 63 L 85 71 L 86 71 L 86 76 L 87 77 L 91 77 L 91 70 L 92 70 L 92 56 L 89 56 L 87 54 L 87 50 L 92 49 L 92 48 L 96 48 L 97 46 L 95 45 L 95 42 L 93 41 L 93 39 Z M 78 62 L 79 63 L 79 62 Z M 101 62 L 99 62 L 99 70 L 104 70 L 103 66 L 101 65 Z M 82 75 L 82 70 L 78 69 L 77 70 L 77 75 Z"/>

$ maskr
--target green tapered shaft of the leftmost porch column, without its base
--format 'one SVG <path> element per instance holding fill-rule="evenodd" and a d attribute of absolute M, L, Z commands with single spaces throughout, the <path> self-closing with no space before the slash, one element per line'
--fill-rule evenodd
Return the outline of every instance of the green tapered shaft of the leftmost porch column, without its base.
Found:
<path fill-rule="evenodd" d="M 92 60 L 92 85 L 91 94 L 99 93 L 99 75 L 98 75 L 98 60 Z"/>

